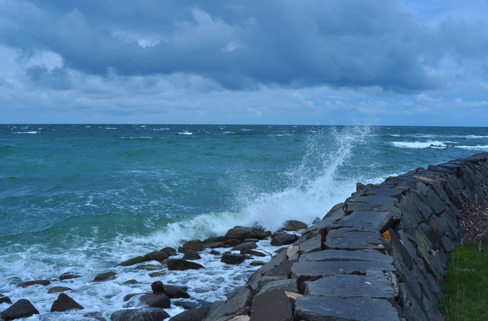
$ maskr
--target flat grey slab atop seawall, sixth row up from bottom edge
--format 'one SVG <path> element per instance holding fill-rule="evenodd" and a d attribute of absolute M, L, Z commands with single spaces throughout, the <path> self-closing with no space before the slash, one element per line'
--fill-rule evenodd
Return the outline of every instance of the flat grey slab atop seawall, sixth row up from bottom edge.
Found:
<path fill-rule="evenodd" d="M 393 222 L 394 215 L 390 212 L 353 211 L 337 223 L 337 227 L 371 228 L 384 233 Z M 395 217 L 397 220 L 400 217 Z"/>

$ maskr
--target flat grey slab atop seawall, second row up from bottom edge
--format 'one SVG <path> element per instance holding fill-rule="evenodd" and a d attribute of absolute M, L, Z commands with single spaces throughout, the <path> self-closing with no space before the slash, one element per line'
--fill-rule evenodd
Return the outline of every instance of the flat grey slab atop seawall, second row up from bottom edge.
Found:
<path fill-rule="evenodd" d="M 381 271 L 368 271 L 366 275 L 337 274 L 313 282 L 307 281 L 304 284 L 305 295 L 367 297 L 395 302 L 394 289 Z"/>

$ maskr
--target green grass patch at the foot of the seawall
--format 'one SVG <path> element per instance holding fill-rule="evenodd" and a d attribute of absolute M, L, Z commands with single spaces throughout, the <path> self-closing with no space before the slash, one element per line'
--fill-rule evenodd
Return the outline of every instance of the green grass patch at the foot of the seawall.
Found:
<path fill-rule="evenodd" d="M 482 248 L 470 243 L 451 254 L 441 303 L 446 321 L 488 320 L 488 250 Z"/>

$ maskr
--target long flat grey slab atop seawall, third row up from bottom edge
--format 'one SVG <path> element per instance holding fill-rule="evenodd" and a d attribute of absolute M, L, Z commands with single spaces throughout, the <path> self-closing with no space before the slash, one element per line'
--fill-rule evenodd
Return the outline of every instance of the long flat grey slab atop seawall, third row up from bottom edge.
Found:
<path fill-rule="evenodd" d="M 314 281 L 327 275 L 336 274 L 366 274 L 369 270 L 394 271 L 393 265 L 384 262 L 360 261 L 328 261 L 328 262 L 299 262 L 291 267 L 291 277 L 301 284 L 304 281 Z"/>

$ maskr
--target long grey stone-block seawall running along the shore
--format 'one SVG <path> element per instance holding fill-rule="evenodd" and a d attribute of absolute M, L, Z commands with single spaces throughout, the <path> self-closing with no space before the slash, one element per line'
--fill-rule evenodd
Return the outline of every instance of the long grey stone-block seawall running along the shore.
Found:
<path fill-rule="evenodd" d="M 263 265 L 204 321 L 441 321 L 463 199 L 488 199 L 488 153 L 357 191 Z"/>

